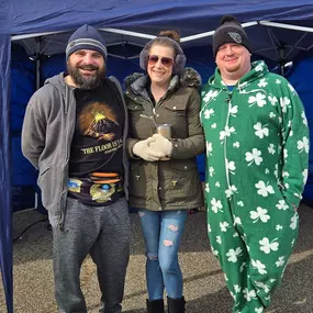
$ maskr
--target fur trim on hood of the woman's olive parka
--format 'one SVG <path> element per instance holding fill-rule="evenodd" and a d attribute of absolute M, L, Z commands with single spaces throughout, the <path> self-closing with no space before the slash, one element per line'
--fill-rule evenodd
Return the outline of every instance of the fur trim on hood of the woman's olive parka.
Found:
<path fill-rule="evenodd" d="M 134 72 L 134 74 L 127 76 L 124 79 L 125 87 L 130 88 L 133 82 L 135 82 L 137 79 L 139 79 L 144 76 L 146 76 L 146 75 L 143 72 Z M 199 72 L 191 67 L 185 68 L 182 75 L 180 76 L 179 81 L 183 87 L 193 87 L 193 88 L 200 88 L 201 83 L 202 83 L 202 80 L 201 80 Z"/>

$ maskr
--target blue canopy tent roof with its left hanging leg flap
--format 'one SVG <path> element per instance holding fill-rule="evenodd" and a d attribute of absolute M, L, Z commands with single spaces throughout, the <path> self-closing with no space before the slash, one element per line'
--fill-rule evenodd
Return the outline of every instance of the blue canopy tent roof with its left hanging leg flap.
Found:
<path fill-rule="evenodd" d="M 222 15 L 232 13 L 246 22 L 254 49 L 283 65 L 301 52 L 310 53 L 313 42 L 312 0 L 237 1 L 230 0 L 0 0 L 0 265 L 8 312 L 13 312 L 12 281 L 12 170 L 10 146 L 11 41 L 24 46 L 36 58 L 37 72 L 42 55 L 63 53 L 70 32 L 81 24 L 103 31 L 109 54 L 132 59 L 138 47 L 159 30 L 177 29 L 190 65 L 200 69 L 211 57 L 213 30 Z M 269 23 L 275 21 L 276 23 Z M 277 23 L 277 22 L 281 22 Z M 291 24 L 290 30 L 283 30 Z M 299 26 L 297 31 L 292 31 Z M 195 46 L 202 46 L 201 49 Z M 190 51 L 189 51 L 190 49 Z M 211 58 L 211 64 L 212 64 Z M 209 66 L 211 69 L 211 67 Z M 37 76 L 37 87 L 40 76 Z"/>

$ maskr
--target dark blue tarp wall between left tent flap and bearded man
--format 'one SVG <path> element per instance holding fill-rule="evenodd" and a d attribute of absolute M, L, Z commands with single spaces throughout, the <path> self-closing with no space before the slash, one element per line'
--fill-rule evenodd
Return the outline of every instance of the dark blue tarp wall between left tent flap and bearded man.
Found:
<path fill-rule="evenodd" d="M 27 102 L 35 92 L 35 63 L 24 48 L 12 45 L 11 53 L 11 155 L 12 209 L 34 208 L 37 171 L 21 152 L 21 131 Z"/>

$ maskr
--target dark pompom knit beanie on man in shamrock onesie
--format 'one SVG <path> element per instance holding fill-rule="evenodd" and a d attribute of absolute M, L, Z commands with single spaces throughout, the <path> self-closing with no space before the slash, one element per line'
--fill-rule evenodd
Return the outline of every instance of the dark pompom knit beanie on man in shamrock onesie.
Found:
<path fill-rule="evenodd" d="M 230 43 L 243 45 L 251 53 L 249 38 L 239 22 L 232 15 L 224 15 L 221 19 L 221 25 L 213 35 L 212 47 L 214 57 L 222 45 Z"/>

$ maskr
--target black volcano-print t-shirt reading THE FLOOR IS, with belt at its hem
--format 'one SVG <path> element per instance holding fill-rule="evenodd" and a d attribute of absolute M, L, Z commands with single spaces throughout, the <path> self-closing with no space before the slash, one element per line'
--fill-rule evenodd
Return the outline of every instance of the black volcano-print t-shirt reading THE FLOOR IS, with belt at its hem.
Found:
<path fill-rule="evenodd" d="M 69 195 L 85 204 L 108 205 L 123 192 L 125 113 L 108 80 L 93 90 L 75 90 L 76 127 L 69 159 Z"/>

